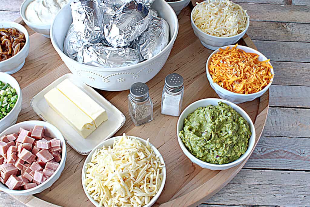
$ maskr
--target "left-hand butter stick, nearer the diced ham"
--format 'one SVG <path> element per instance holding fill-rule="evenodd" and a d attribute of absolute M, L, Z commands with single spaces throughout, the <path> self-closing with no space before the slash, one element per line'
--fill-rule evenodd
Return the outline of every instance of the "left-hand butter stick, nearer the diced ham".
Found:
<path fill-rule="evenodd" d="M 44 95 L 44 98 L 48 105 L 82 137 L 86 138 L 96 129 L 94 120 L 80 110 L 57 88 L 53 88 L 47 92 L 47 94 Z"/>

